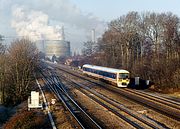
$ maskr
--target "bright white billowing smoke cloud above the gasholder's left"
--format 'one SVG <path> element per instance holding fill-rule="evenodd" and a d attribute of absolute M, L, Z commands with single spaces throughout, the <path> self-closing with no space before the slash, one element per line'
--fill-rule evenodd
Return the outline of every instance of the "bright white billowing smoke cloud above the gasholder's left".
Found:
<path fill-rule="evenodd" d="M 18 36 L 29 37 L 31 40 L 60 40 L 59 26 L 50 26 L 49 17 L 41 11 L 25 9 L 16 6 L 13 9 L 12 27 L 16 29 Z"/>

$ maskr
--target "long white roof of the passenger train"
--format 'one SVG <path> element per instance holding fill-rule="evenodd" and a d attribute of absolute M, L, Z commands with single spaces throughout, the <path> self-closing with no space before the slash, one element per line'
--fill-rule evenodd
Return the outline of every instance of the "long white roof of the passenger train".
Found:
<path fill-rule="evenodd" d="M 83 65 L 83 67 L 92 68 L 96 70 L 102 70 L 102 71 L 111 72 L 111 73 L 129 73 L 129 71 L 124 70 L 124 69 L 108 68 L 108 67 L 102 67 L 102 66 L 96 66 L 96 65 L 90 65 L 90 64 L 85 64 Z"/>

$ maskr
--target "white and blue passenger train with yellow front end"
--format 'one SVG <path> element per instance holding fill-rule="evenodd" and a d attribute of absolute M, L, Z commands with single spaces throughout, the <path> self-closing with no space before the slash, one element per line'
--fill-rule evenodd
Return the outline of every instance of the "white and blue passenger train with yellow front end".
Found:
<path fill-rule="evenodd" d="M 127 87 L 130 83 L 130 72 L 124 69 L 115 69 L 91 64 L 82 66 L 83 74 L 103 79 L 118 87 Z"/>

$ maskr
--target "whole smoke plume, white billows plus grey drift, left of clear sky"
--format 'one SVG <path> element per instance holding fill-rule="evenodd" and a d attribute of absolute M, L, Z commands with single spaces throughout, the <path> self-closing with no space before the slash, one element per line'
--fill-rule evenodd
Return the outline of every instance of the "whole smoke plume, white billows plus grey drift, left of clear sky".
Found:
<path fill-rule="evenodd" d="M 99 37 L 105 26 L 104 22 L 93 14 L 84 13 L 70 0 L 0 0 L 0 18 L 1 28 L 10 30 L 12 26 L 19 36 L 34 40 L 61 38 L 57 25 L 64 25 L 66 39 L 70 40 L 72 48 L 78 49 L 89 40 L 87 37 L 91 37 L 92 29 Z"/>

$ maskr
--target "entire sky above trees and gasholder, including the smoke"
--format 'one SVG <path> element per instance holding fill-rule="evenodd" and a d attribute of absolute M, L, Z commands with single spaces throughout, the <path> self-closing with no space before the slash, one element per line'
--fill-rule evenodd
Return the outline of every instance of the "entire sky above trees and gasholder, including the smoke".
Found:
<path fill-rule="evenodd" d="M 180 17 L 179 0 L 0 0 L 0 34 L 9 41 L 65 39 L 72 51 L 81 51 L 83 42 L 96 38 L 108 22 L 130 11 L 172 12 Z"/>

